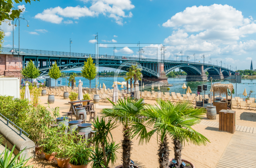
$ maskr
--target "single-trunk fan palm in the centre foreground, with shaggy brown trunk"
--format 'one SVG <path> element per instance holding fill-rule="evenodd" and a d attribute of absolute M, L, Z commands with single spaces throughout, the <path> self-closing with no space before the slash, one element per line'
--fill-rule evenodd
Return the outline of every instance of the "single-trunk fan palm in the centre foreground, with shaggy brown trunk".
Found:
<path fill-rule="evenodd" d="M 109 100 L 110 101 L 110 100 Z M 138 120 L 138 115 L 143 109 L 142 99 L 135 101 L 132 98 L 127 98 L 118 100 L 115 103 L 110 101 L 113 104 L 113 108 L 104 108 L 101 110 L 103 117 L 111 117 L 114 121 L 119 122 L 123 125 L 123 136 L 122 149 L 123 149 L 123 168 L 130 168 L 131 161 L 131 128 L 130 124 L 133 121 Z"/>

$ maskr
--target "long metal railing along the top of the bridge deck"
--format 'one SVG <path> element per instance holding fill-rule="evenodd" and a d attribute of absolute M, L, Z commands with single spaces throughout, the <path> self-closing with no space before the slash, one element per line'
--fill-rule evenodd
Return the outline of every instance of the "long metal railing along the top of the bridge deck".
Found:
<path fill-rule="evenodd" d="M 0 49 L 1 52 L 11 52 L 11 53 L 27 53 L 27 54 L 40 54 L 40 55 L 60 55 L 60 56 L 70 56 L 70 57 L 92 57 L 96 59 L 100 58 L 109 58 L 109 59 L 119 59 L 119 60 L 138 60 L 138 61 L 157 61 L 157 62 L 174 62 L 174 63 L 188 63 L 188 64 L 197 64 L 197 65 L 208 65 L 214 67 L 220 67 L 212 64 L 205 64 L 199 62 L 190 62 L 190 61 L 175 61 L 175 60 L 161 60 L 161 59 L 151 59 L 151 58 L 138 58 L 138 57 L 125 57 L 125 56 L 113 56 L 113 55 L 100 55 L 100 54 L 86 54 L 86 53 L 68 53 L 68 52 L 59 52 L 59 51 L 45 51 L 45 50 L 31 50 L 31 49 L 19 49 L 14 48 L 14 52 L 12 52 L 12 48 L 3 47 Z M 220 67 L 225 68 L 225 67 Z M 227 69 L 227 68 L 225 68 Z M 230 69 L 228 69 L 230 70 Z M 232 70 L 230 70 L 232 71 Z M 232 71 L 235 72 L 235 71 Z"/>

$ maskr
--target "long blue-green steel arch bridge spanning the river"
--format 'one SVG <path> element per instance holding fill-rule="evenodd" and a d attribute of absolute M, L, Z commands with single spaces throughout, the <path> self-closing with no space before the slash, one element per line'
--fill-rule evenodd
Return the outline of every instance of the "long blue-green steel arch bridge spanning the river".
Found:
<path fill-rule="evenodd" d="M 20 49 L 20 53 L 12 53 L 12 48 L 1 48 L 1 54 L 14 55 L 14 57 L 22 58 L 22 67 L 32 60 L 36 67 L 41 71 L 40 76 L 48 74 L 49 69 L 56 61 L 60 70 L 68 70 L 77 67 L 83 67 L 84 61 L 87 58 L 92 57 L 97 67 L 112 67 L 127 71 L 127 69 L 134 64 L 138 64 L 142 68 L 142 74 L 147 77 L 159 77 L 161 72 L 165 74 L 170 73 L 176 68 L 180 68 L 188 75 L 202 75 L 203 72 L 208 72 L 209 75 L 229 76 L 235 74 L 235 71 L 211 64 L 203 64 L 200 62 L 189 61 L 175 61 L 175 60 L 159 60 L 159 59 L 139 59 L 137 57 L 124 57 L 124 56 L 112 56 L 112 55 L 96 55 L 86 53 L 67 53 L 56 51 L 44 51 L 44 50 L 30 50 Z M 14 49 L 18 51 L 18 49 Z M 18 55 L 19 54 L 19 55 Z"/>

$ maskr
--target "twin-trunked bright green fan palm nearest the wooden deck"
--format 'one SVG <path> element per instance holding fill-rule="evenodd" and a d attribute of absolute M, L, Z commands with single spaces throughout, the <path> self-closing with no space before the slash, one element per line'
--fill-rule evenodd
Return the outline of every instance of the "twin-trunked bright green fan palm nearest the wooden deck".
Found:
<path fill-rule="evenodd" d="M 195 109 L 188 101 L 176 102 L 176 104 L 162 99 L 156 101 L 160 107 L 145 105 L 146 110 L 142 110 L 141 115 L 147 117 L 140 122 L 135 122 L 132 130 L 135 135 L 139 134 L 139 143 L 143 141 L 148 143 L 155 132 L 160 136 L 157 153 L 160 168 L 169 166 L 170 150 L 167 135 L 170 136 L 174 144 L 174 159 L 177 161 L 177 167 L 180 167 L 182 144 L 190 142 L 196 145 L 206 145 L 206 142 L 210 142 L 191 127 L 201 121 L 205 110 Z M 152 127 L 153 129 L 147 132 L 147 129 Z"/>

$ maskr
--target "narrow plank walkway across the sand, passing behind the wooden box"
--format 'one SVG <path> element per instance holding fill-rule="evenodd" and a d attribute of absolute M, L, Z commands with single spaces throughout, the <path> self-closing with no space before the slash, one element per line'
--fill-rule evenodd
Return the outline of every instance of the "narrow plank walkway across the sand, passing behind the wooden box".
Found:
<path fill-rule="evenodd" d="M 202 120 L 200 122 L 200 124 L 201 125 L 206 125 L 206 126 L 209 126 L 209 127 L 219 128 L 219 122 L 215 122 L 215 121 L 211 121 L 211 120 Z M 236 131 L 256 134 L 256 128 L 255 127 L 247 127 L 247 126 L 236 125 Z"/>

